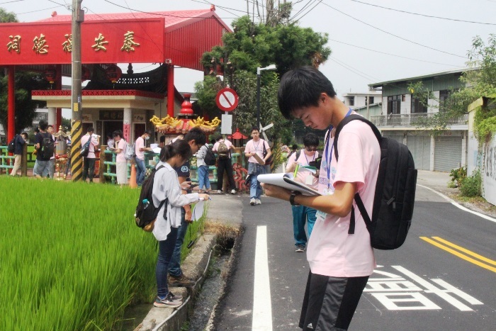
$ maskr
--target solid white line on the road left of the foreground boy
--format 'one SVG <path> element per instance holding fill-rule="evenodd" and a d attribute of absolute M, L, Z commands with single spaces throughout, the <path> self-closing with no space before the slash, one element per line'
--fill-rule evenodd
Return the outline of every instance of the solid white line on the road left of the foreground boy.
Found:
<path fill-rule="evenodd" d="M 267 227 L 257 227 L 252 330 L 272 330 L 271 286 L 267 258 Z"/>

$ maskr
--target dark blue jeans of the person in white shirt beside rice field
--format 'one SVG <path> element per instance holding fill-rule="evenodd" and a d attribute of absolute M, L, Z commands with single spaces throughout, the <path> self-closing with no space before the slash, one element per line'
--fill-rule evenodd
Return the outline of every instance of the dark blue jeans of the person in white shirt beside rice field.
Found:
<path fill-rule="evenodd" d="M 169 294 L 167 285 L 167 269 L 171 262 L 172 252 L 176 245 L 177 228 L 171 228 L 166 240 L 159 241 L 159 257 L 157 259 L 157 268 L 155 269 L 155 278 L 157 278 L 157 295 L 160 297 Z"/>

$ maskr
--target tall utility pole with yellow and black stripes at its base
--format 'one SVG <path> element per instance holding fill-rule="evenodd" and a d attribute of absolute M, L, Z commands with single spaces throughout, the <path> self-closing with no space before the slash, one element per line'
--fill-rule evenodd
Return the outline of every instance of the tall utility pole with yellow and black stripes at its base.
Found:
<path fill-rule="evenodd" d="M 72 130 L 71 130 L 71 176 L 72 181 L 82 177 L 83 158 L 81 157 L 81 136 L 83 133 L 81 109 L 81 22 L 84 11 L 81 11 L 83 0 L 72 0 Z"/>

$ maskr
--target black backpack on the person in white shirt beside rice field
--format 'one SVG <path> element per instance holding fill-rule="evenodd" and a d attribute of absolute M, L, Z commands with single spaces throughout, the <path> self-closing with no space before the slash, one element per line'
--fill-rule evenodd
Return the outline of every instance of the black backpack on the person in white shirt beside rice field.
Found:
<path fill-rule="evenodd" d="M 164 203 L 164 218 L 167 220 L 167 198 L 162 201 L 158 207 L 155 207 L 152 196 L 155 174 L 163 167 L 164 166 L 161 165 L 156 170 L 153 170 L 152 174 L 145 179 L 141 186 L 140 200 L 137 202 L 136 206 L 136 225 L 147 232 L 153 231 L 155 220 L 157 220 L 157 215 L 159 214 L 160 208 L 164 206 Z"/>

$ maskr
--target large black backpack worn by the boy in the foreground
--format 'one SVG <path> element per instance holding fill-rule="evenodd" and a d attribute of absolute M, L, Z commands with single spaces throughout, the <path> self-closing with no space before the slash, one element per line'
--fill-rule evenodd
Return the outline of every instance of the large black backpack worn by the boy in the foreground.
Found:
<path fill-rule="evenodd" d="M 383 137 L 376 125 L 359 115 L 350 115 L 337 125 L 334 136 L 334 154 L 339 158 L 337 139 L 344 125 L 351 120 L 361 120 L 370 125 L 381 147 L 381 161 L 373 199 L 372 218 L 356 193 L 354 200 L 371 235 L 371 245 L 377 249 L 400 247 L 412 223 L 417 169 L 408 147 L 388 137 Z M 354 233 L 355 215 L 351 208 L 349 234 Z"/>

